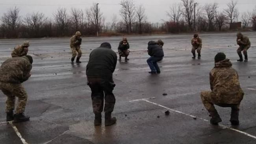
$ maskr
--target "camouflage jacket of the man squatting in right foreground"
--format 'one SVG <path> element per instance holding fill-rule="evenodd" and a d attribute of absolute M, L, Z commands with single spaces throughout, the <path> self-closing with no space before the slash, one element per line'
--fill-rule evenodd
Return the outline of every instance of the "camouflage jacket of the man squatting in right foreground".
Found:
<path fill-rule="evenodd" d="M 238 74 L 229 59 L 215 63 L 210 72 L 210 85 L 217 103 L 237 104 L 243 99 Z"/>

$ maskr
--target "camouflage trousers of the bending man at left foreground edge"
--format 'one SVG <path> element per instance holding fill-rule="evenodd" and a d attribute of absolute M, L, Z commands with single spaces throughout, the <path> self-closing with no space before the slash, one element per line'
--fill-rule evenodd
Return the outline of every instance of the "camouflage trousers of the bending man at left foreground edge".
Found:
<path fill-rule="evenodd" d="M 18 106 L 16 113 L 24 113 L 27 103 L 27 92 L 20 83 L 2 83 L 0 89 L 7 96 L 6 112 L 12 111 L 15 108 L 15 98 L 18 97 Z"/>

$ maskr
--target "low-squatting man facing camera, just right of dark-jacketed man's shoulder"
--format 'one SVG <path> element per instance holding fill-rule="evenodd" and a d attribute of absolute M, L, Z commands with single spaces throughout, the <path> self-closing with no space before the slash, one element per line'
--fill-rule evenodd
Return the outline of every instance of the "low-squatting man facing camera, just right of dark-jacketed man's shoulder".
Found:
<path fill-rule="evenodd" d="M 122 38 L 122 41 L 119 42 L 118 46 L 118 53 L 119 53 L 119 61 L 121 61 L 121 57 L 125 57 L 125 61 L 127 62 L 129 59 L 127 58 L 130 51 L 128 50 L 130 48 L 129 42 L 127 41 L 126 37 Z"/>

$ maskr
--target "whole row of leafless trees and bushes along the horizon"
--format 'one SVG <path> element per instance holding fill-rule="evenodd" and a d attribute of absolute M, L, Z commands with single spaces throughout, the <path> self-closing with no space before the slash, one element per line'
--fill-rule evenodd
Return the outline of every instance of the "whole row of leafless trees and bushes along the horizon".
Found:
<path fill-rule="evenodd" d="M 204 5 L 195 0 L 181 0 L 173 4 L 166 12 L 169 20 L 158 23 L 147 22 L 143 5 L 135 6 L 133 0 L 121 0 L 120 20 L 113 15 L 111 22 L 105 23 L 103 13 L 93 4 L 89 9 L 57 9 L 52 18 L 43 13 L 20 15 L 20 9 L 14 7 L 1 18 L 0 37 L 65 37 L 74 31 L 83 35 L 99 33 L 153 33 L 187 31 L 221 31 L 229 24 L 241 21 L 243 28 L 252 26 L 256 30 L 256 7 L 254 11 L 239 14 L 237 1 L 231 0 L 225 9 L 219 9 L 217 3 Z M 240 16 L 240 17 L 239 17 Z"/>

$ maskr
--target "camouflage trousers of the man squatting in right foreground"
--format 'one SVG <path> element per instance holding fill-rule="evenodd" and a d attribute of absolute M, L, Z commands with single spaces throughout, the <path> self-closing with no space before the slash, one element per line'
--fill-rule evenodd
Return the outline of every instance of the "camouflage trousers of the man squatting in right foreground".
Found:
<path fill-rule="evenodd" d="M 202 91 L 201 99 L 204 107 L 207 109 L 209 113 L 216 111 L 214 105 L 218 105 L 220 107 L 231 107 L 232 109 L 236 109 L 239 111 L 240 103 L 230 104 L 230 103 L 218 103 L 216 102 L 216 96 L 211 91 Z"/>

